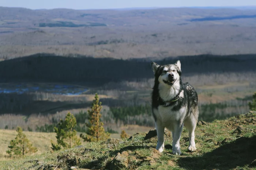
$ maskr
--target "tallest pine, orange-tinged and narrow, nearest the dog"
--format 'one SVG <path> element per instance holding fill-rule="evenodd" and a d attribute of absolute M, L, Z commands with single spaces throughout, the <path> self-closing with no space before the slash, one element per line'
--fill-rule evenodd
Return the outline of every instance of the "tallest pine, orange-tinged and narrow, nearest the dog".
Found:
<path fill-rule="evenodd" d="M 98 94 L 95 94 L 95 99 L 93 100 L 93 104 L 91 110 L 88 110 L 89 123 L 86 123 L 88 127 L 88 131 L 86 135 L 80 134 L 80 137 L 84 139 L 84 141 L 95 142 L 102 141 L 109 138 L 109 133 L 105 132 L 103 127 L 103 122 L 101 122 L 101 102 L 99 102 Z"/>

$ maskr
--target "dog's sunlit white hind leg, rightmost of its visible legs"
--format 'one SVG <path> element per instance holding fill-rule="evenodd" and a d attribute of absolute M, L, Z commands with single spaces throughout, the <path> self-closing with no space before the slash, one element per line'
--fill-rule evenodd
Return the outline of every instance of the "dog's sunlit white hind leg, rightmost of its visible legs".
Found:
<path fill-rule="evenodd" d="M 198 109 L 195 110 L 197 113 L 192 113 L 184 122 L 184 126 L 188 130 L 188 138 L 189 138 L 189 146 L 188 150 L 193 152 L 196 151 L 196 143 L 195 143 L 195 129 L 196 129 L 196 123 L 197 123 L 197 117 L 195 114 L 198 115 Z"/>

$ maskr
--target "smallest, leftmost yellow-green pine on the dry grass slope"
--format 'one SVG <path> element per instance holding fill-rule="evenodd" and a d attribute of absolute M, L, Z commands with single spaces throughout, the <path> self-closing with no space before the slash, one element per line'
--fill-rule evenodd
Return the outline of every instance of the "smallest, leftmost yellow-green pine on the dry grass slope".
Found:
<path fill-rule="evenodd" d="M 27 139 L 26 135 L 23 134 L 22 128 L 17 127 L 16 132 L 18 132 L 18 135 L 14 140 L 11 140 L 10 146 L 8 146 L 10 150 L 7 150 L 6 152 L 10 155 L 25 155 L 27 153 L 35 153 L 37 148 L 32 146 L 29 139 Z"/>

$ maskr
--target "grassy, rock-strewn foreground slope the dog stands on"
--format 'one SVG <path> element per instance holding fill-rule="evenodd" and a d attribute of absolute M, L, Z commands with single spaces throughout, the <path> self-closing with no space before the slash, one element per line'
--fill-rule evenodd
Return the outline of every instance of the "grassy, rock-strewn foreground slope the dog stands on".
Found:
<path fill-rule="evenodd" d="M 234 133 L 237 127 L 241 133 Z M 227 120 L 215 120 L 196 128 L 197 151 L 189 153 L 188 134 L 184 130 L 181 136 L 182 155 L 172 155 L 171 147 L 158 153 L 154 148 L 157 138 L 144 140 L 145 133 L 135 134 L 131 140 L 108 139 L 93 142 L 84 148 L 60 150 L 54 153 L 26 156 L 9 161 L 1 161 L 3 170 L 16 169 L 63 169 L 71 166 L 86 169 L 112 169 L 113 159 L 117 153 L 128 153 L 128 164 L 124 169 L 154 170 L 203 170 L 233 169 L 253 170 L 250 163 L 256 159 L 256 112 L 237 115 Z M 165 137 L 165 145 L 172 144 L 171 137 Z"/>

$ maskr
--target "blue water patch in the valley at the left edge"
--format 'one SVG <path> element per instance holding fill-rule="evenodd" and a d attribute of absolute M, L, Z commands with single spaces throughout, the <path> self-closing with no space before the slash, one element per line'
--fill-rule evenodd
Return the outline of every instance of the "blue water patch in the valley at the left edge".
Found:
<path fill-rule="evenodd" d="M 0 84 L 0 94 L 47 92 L 58 95 L 80 95 L 86 91 L 87 89 L 83 87 L 60 84 Z"/>

